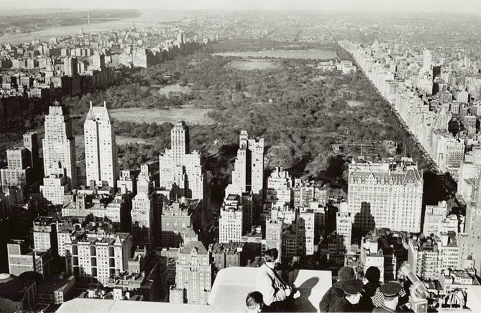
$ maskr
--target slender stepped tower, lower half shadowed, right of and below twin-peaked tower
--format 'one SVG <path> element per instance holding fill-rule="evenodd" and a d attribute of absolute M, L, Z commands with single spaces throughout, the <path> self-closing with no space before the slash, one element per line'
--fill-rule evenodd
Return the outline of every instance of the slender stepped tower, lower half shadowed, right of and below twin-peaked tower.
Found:
<path fill-rule="evenodd" d="M 133 245 L 153 247 L 152 227 L 154 223 L 154 195 L 150 180 L 149 166 L 142 164 L 137 178 L 137 195 L 132 200 L 132 237 Z"/>

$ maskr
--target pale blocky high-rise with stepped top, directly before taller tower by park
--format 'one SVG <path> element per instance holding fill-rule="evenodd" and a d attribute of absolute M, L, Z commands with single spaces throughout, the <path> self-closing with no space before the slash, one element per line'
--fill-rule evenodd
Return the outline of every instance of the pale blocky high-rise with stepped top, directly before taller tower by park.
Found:
<path fill-rule="evenodd" d="M 243 207 L 239 195 L 224 199 L 219 217 L 219 243 L 240 243 L 243 231 Z"/>

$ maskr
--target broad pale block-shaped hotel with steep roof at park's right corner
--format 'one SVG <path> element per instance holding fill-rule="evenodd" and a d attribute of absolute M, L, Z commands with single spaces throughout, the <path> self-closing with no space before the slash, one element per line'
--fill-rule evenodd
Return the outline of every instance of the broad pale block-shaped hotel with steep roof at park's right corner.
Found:
<path fill-rule="evenodd" d="M 422 171 L 410 159 L 349 164 L 348 207 L 354 227 L 421 231 Z"/>

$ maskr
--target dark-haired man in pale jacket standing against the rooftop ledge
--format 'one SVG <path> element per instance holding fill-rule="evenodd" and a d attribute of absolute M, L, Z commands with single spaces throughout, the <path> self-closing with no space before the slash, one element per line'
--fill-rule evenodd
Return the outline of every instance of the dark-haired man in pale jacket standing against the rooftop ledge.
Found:
<path fill-rule="evenodd" d="M 277 274 L 274 269 L 278 257 L 277 249 L 264 252 L 264 264 L 260 266 L 255 278 L 256 289 L 264 298 L 265 312 L 292 311 L 293 296 L 296 292 Z"/>

